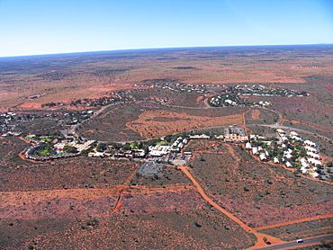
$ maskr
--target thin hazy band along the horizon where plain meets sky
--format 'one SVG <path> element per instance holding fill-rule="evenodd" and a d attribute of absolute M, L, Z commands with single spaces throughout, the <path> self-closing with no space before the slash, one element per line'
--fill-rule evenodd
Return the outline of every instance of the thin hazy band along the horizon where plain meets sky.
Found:
<path fill-rule="evenodd" d="M 99 53 L 99 52 L 126 52 L 138 50 L 157 50 L 157 49 L 209 49 L 209 48 L 240 48 L 240 47 L 277 47 L 277 46 L 313 46 L 313 45 L 333 45 L 333 42 L 328 43 L 295 43 L 295 44 L 248 44 L 248 45 L 216 45 L 216 46 L 180 46 L 180 47 L 151 47 L 151 48 L 136 48 L 136 49 L 101 49 L 101 50 L 88 50 L 88 51 L 71 51 L 71 52 L 58 52 L 58 53 L 45 53 L 45 54 L 23 54 L 15 56 L 0 56 L 3 58 L 29 58 L 29 57 L 42 57 L 42 56 L 57 56 L 57 55 L 70 55 L 70 54 L 84 54 L 84 53 Z"/>

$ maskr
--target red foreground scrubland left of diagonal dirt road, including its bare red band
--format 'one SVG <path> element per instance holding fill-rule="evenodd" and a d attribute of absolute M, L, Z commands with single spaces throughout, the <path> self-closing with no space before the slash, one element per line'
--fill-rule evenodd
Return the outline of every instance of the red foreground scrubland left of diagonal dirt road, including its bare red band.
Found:
<path fill-rule="evenodd" d="M 49 193 L 42 198 L 44 201 L 31 199 L 27 194 L 2 193 L 4 201 L 8 196 L 11 199 L 0 208 L 1 246 L 160 249 L 181 245 L 189 249 L 229 249 L 247 248 L 255 243 L 252 235 L 208 207 L 191 190 L 123 192 L 119 211 L 112 210 L 113 192 L 85 190 L 77 197 L 80 192 Z M 13 203 L 15 195 L 21 197 L 20 204 Z"/>

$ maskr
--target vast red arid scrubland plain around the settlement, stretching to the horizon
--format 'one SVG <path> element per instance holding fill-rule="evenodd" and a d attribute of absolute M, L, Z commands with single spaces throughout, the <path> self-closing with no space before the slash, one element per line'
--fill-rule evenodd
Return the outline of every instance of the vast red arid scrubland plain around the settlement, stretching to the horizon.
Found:
<path fill-rule="evenodd" d="M 238 85 L 291 94 L 211 105 Z M 318 237 L 312 245 L 329 249 L 320 237 L 333 234 L 332 96 L 331 45 L 0 58 L 0 248 L 259 249 Z M 314 141 L 321 177 L 260 160 L 226 139 L 229 128 Z M 175 158 L 153 156 L 202 134 Z M 27 157 L 33 137 L 53 147 L 68 135 L 93 149 Z M 122 149 L 148 153 L 119 158 Z M 156 174 L 142 174 L 144 162 Z"/>

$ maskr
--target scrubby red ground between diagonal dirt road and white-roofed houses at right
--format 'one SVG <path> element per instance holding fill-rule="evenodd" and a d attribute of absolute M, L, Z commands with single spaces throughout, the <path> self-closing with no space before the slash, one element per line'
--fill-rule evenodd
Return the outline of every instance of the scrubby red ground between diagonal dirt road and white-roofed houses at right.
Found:
<path fill-rule="evenodd" d="M 189 166 L 204 191 L 250 227 L 331 213 L 331 185 L 327 183 L 256 162 L 240 147 L 220 143 L 210 149 L 203 141 L 188 147 L 198 152 Z"/>

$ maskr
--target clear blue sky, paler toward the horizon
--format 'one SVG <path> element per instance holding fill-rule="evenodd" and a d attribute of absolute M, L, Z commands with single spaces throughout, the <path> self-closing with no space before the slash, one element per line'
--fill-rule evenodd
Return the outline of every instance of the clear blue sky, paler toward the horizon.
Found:
<path fill-rule="evenodd" d="M 0 0 L 0 57 L 333 43 L 333 0 Z"/>

